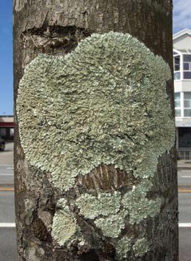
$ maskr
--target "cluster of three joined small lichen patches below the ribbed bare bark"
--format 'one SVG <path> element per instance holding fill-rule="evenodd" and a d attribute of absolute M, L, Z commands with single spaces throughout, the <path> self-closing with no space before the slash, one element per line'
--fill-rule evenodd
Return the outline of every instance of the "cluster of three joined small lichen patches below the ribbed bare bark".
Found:
<path fill-rule="evenodd" d="M 100 193 L 98 197 L 90 194 L 81 195 L 76 201 L 86 219 L 94 219 L 99 215 L 107 216 L 94 221 L 104 236 L 116 238 L 125 227 L 125 217 L 129 215 L 129 223 L 140 223 L 148 216 L 154 217 L 160 212 L 162 199 L 147 199 L 147 192 L 152 183 L 148 179 L 142 179 L 138 186 L 133 186 L 130 192 L 123 195 L 121 200 L 120 192 Z"/>

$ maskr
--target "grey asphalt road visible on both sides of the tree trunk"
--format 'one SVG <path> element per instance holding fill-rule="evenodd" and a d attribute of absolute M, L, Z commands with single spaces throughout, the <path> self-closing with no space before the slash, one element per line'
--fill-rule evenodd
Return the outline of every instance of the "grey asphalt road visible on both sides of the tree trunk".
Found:
<path fill-rule="evenodd" d="M 0 153 L 0 261 L 16 260 L 16 231 L 14 225 L 13 144 Z M 179 171 L 179 186 L 191 188 L 190 171 Z M 179 261 L 191 260 L 191 190 L 179 192 Z M 171 260 L 170 260 L 171 261 Z"/>

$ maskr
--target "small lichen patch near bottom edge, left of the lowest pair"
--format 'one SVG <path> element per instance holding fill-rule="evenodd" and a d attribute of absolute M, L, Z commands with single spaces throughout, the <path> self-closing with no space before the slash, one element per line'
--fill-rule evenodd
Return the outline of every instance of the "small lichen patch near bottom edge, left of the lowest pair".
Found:
<path fill-rule="evenodd" d="M 127 258 L 127 253 L 131 250 L 131 245 L 131 238 L 128 238 L 127 236 L 118 240 L 116 245 L 116 256 L 118 260 Z"/>

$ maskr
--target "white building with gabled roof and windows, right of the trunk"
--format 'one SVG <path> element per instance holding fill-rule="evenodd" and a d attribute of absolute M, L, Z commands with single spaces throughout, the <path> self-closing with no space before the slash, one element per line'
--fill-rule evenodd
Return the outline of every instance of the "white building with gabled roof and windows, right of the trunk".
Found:
<path fill-rule="evenodd" d="M 175 120 L 179 158 L 191 159 L 191 30 L 173 35 Z"/>

